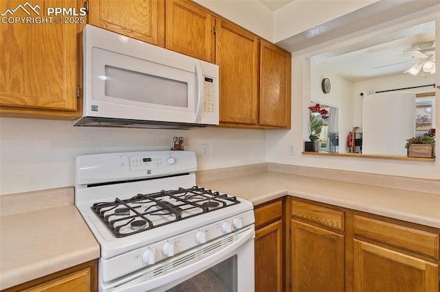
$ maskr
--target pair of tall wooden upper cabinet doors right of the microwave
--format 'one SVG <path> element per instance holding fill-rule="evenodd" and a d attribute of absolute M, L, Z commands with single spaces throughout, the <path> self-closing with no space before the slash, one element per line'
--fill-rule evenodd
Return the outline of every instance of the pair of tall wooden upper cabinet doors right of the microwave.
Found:
<path fill-rule="evenodd" d="M 290 128 L 291 55 L 228 21 L 217 21 L 220 125 Z"/>

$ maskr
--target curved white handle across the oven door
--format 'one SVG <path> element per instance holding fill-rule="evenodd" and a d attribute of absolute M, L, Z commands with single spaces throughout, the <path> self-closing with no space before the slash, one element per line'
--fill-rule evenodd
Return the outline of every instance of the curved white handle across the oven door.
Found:
<path fill-rule="evenodd" d="M 126 292 L 138 292 L 138 291 L 154 291 L 154 289 L 159 288 L 159 290 L 164 289 L 164 285 L 175 282 L 176 280 L 187 280 L 191 278 L 192 276 L 197 275 L 197 273 L 204 271 L 208 269 L 209 267 L 212 267 L 215 265 L 219 260 L 222 260 L 224 256 L 230 254 L 231 252 L 234 252 L 234 250 L 237 250 L 241 245 L 245 244 L 247 241 L 250 241 L 250 239 L 254 239 L 255 237 L 255 228 L 254 226 L 250 226 L 243 230 L 242 232 L 239 232 L 236 234 L 236 236 L 239 236 L 239 239 L 236 239 L 232 243 L 222 246 L 221 250 L 215 252 L 214 254 L 210 254 L 209 256 L 206 256 L 206 258 L 203 258 L 201 260 L 197 260 L 193 263 L 190 263 L 189 265 L 182 265 L 181 269 L 177 269 L 175 271 L 171 271 L 170 273 L 164 273 L 164 275 L 159 276 L 157 278 L 144 280 L 142 282 L 135 282 L 131 283 L 125 282 L 120 285 L 112 285 L 113 289 L 109 287 L 108 291 L 126 291 Z M 212 244 L 207 245 L 201 245 L 201 250 L 203 250 L 206 247 L 209 247 Z M 133 281 L 134 282 L 134 281 Z M 179 283 L 176 283 L 179 284 Z M 172 288 L 172 287 L 168 287 Z"/>

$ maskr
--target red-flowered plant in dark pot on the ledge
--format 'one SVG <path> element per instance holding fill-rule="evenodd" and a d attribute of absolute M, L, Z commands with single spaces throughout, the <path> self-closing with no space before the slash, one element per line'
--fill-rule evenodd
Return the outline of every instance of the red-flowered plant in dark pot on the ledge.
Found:
<path fill-rule="evenodd" d="M 305 142 L 305 151 L 318 151 L 318 140 L 324 121 L 329 119 L 328 110 L 321 108 L 320 104 L 309 106 L 309 139 Z"/>

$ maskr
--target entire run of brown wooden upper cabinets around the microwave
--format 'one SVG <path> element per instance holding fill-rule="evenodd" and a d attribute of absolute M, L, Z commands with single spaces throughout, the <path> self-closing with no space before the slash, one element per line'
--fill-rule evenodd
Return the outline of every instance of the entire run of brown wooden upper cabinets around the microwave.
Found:
<path fill-rule="evenodd" d="M 35 0 L 32 4 L 59 7 L 58 2 Z M 19 0 L 1 1 L 0 10 L 20 4 Z M 72 120 L 81 116 L 78 33 L 87 20 L 218 64 L 222 126 L 290 128 L 290 53 L 188 0 L 88 0 L 85 4 L 88 14 L 81 23 L 0 26 L 2 117 Z M 84 2 L 64 0 L 63 5 L 79 10 Z"/>

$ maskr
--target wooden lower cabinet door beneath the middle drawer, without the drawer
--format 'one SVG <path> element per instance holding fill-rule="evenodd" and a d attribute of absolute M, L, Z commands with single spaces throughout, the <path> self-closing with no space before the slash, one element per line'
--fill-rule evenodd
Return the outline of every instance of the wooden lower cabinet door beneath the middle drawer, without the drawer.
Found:
<path fill-rule="evenodd" d="M 292 220 L 292 291 L 344 291 L 344 236 Z"/>

